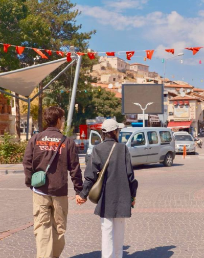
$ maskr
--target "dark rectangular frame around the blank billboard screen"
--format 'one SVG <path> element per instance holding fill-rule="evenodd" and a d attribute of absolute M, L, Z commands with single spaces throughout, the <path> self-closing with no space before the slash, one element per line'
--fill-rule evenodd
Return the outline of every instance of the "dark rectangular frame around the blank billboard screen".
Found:
<path fill-rule="evenodd" d="M 162 108 L 162 112 L 146 112 L 145 111 L 145 113 L 148 113 L 148 114 L 164 114 L 164 85 L 161 83 L 161 84 L 148 84 L 148 83 L 146 83 L 146 84 L 135 84 L 135 83 L 124 83 L 124 84 L 122 84 L 122 114 L 123 115 L 125 115 L 125 114 L 140 114 L 141 112 L 142 112 L 142 110 L 140 111 L 140 112 L 131 112 L 131 113 L 127 113 L 127 112 L 125 112 L 124 111 L 124 109 L 125 109 L 125 107 L 124 107 L 124 87 L 125 86 L 135 86 L 135 87 L 137 87 L 137 86 L 158 86 L 158 85 L 160 85 L 161 87 L 162 87 L 162 92 L 163 92 L 163 94 L 162 94 L 162 96 L 161 96 L 161 104 L 162 104 L 162 106 L 161 106 L 161 108 Z M 144 108 L 144 107 L 143 107 Z"/>

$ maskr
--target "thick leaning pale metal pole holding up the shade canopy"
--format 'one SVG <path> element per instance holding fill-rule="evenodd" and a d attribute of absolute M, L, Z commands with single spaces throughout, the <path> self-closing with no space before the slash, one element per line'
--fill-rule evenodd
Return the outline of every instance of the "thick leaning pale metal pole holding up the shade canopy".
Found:
<path fill-rule="evenodd" d="M 77 60 L 77 67 L 76 67 L 76 72 L 75 72 L 75 77 L 74 77 L 70 109 L 69 109 L 69 112 L 67 115 L 66 132 L 68 132 L 70 130 L 71 124 L 72 124 L 72 117 L 73 117 L 75 98 L 76 98 L 76 92 L 77 92 L 77 84 L 78 84 L 79 72 L 80 72 L 80 66 L 81 66 L 81 59 L 82 59 L 82 56 L 79 56 L 78 60 Z"/>

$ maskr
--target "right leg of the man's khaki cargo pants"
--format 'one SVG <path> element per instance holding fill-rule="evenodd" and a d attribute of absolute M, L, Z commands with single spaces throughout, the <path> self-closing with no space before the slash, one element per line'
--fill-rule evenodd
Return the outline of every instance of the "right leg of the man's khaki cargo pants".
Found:
<path fill-rule="evenodd" d="M 52 197 L 53 201 L 53 256 L 59 257 L 64 249 L 64 233 L 68 214 L 67 196 Z"/>

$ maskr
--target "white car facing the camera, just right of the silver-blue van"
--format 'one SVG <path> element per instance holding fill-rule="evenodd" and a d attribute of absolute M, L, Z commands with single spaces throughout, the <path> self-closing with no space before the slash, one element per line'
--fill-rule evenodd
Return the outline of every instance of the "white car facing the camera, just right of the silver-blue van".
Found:
<path fill-rule="evenodd" d="M 195 154 L 195 141 L 193 137 L 188 134 L 175 134 L 175 150 L 176 153 L 183 153 L 184 145 L 186 145 L 186 152 Z"/>

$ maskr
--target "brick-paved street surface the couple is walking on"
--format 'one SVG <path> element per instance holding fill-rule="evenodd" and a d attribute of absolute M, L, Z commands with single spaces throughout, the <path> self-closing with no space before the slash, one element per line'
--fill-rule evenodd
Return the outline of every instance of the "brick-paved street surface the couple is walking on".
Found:
<path fill-rule="evenodd" d="M 199 154 L 198 154 L 199 153 Z M 135 167 L 137 205 L 126 220 L 124 258 L 203 258 L 204 149 L 176 155 L 174 166 Z M 84 158 L 80 158 L 84 169 Z M 3 165 L 1 165 L 4 169 Z M 0 167 L 1 169 L 1 167 Z M 24 174 L 0 175 L 0 257 L 33 258 L 32 192 Z M 95 205 L 77 206 L 69 181 L 69 217 L 63 258 L 100 258 L 100 220 Z"/>

